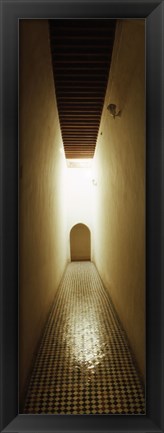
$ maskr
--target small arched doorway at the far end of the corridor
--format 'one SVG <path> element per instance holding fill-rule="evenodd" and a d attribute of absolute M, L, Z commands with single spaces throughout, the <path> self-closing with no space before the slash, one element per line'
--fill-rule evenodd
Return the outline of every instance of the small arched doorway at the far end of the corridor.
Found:
<path fill-rule="evenodd" d="M 70 231 L 71 261 L 91 260 L 91 234 L 85 224 L 76 224 Z"/>

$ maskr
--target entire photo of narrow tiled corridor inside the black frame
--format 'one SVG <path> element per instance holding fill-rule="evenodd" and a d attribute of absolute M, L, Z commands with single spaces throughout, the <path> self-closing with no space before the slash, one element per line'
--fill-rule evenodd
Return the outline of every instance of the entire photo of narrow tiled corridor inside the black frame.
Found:
<path fill-rule="evenodd" d="M 145 20 L 19 27 L 19 413 L 145 414 Z"/>

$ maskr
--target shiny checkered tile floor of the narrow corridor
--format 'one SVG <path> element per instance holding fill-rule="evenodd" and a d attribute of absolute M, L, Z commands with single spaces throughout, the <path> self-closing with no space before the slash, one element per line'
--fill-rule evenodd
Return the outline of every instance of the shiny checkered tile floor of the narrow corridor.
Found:
<path fill-rule="evenodd" d="M 72 262 L 29 384 L 24 413 L 144 414 L 144 392 L 110 298 L 91 262 Z"/>

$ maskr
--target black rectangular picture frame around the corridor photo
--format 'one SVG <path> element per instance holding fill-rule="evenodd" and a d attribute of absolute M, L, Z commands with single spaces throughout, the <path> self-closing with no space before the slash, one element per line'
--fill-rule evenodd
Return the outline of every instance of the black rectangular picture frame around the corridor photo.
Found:
<path fill-rule="evenodd" d="M 146 21 L 146 415 L 18 414 L 18 20 Z M 1 0 L 1 431 L 163 432 L 164 1 Z"/>

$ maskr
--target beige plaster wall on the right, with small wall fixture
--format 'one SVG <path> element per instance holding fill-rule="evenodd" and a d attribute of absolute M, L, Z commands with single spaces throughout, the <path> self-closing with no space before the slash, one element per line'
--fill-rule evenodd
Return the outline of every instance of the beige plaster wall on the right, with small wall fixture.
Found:
<path fill-rule="evenodd" d="M 94 159 L 94 261 L 145 372 L 144 21 L 118 23 Z M 113 119 L 107 110 L 122 110 Z"/>

